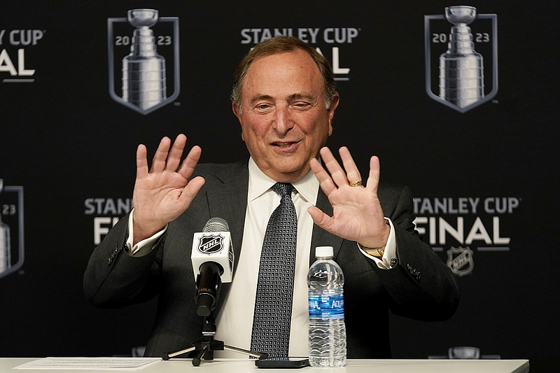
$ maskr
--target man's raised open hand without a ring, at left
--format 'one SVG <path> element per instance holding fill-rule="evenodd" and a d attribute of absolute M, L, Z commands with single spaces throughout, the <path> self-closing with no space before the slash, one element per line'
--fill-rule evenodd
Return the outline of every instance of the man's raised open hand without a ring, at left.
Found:
<path fill-rule="evenodd" d="M 193 146 L 181 163 L 186 142 L 184 134 L 177 136 L 173 146 L 171 139 L 164 137 L 153 156 L 149 171 L 146 146 L 138 146 L 137 174 L 132 195 L 133 244 L 153 236 L 167 223 L 178 218 L 204 185 L 201 176 L 189 180 L 200 160 L 200 146 Z"/>

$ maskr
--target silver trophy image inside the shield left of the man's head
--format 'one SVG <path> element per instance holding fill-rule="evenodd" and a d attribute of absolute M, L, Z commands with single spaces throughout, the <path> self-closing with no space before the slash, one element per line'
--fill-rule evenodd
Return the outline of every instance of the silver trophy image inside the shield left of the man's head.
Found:
<path fill-rule="evenodd" d="M 165 58 L 158 55 L 152 27 L 158 23 L 158 10 L 128 11 L 134 34 L 130 54 L 123 58 L 123 100 L 147 110 L 167 98 Z"/>

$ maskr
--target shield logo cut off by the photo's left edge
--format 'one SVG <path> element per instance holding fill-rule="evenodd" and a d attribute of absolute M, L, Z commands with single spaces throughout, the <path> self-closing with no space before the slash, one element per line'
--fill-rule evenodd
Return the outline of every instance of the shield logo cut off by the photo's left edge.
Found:
<path fill-rule="evenodd" d="M 23 187 L 0 179 L 0 278 L 23 265 Z"/>

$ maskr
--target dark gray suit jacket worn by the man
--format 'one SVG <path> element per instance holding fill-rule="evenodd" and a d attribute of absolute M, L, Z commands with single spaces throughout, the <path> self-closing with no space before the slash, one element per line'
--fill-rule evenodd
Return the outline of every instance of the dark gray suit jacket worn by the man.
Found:
<path fill-rule="evenodd" d="M 247 206 L 247 162 L 200 164 L 196 173 L 206 179 L 204 187 L 190 208 L 169 223 L 151 253 L 139 258 L 123 253 L 126 216 L 95 248 L 84 274 L 85 296 L 99 307 L 120 307 L 159 295 L 146 356 L 185 349 L 202 336 L 190 250 L 193 234 L 200 232 L 209 218 L 217 216 L 229 223 L 237 268 Z M 442 321 L 454 314 L 458 304 L 453 274 L 414 231 L 409 190 L 380 185 L 378 195 L 385 216 L 395 227 L 398 258 L 393 260 L 392 269 L 379 269 L 358 251 L 356 242 L 317 226 L 311 239 L 309 262 L 314 261 L 316 246 L 332 246 L 344 272 L 348 358 L 391 357 L 388 309 L 400 316 Z M 317 206 L 332 215 L 332 207 L 321 190 Z M 216 314 L 229 290 L 230 284 L 223 283 Z"/>

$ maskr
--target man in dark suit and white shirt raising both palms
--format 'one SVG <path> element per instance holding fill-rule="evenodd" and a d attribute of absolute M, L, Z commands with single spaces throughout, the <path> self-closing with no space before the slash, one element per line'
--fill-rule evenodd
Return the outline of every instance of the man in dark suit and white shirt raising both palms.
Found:
<path fill-rule="evenodd" d="M 235 273 L 216 304 L 216 337 L 248 349 L 260 248 L 280 198 L 270 188 L 281 182 L 294 186 L 297 211 L 290 356 L 307 356 L 306 279 L 316 246 L 332 246 L 344 272 L 349 358 L 391 356 L 388 309 L 419 320 L 449 318 L 458 286 L 414 231 L 409 190 L 379 184 L 377 157 L 362 183 L 347 148 L 339 150 L 341 166 L 325 147 L 338 102 L 330 66 L 313 48 L 290 37 L 257 45 L 240 62 L 232 92 L 248 162 L 198 164 L 197 146 L 181 162 L 181 134 L 173 143 L 162 139 L 148 170 L 139 146 L 134 209 L 92 254 L 87 299 L 118 307 L 159 295 L 146 356 L 186 348 L 202 327 L 193 234 L 218 216 L 230 225 Z"/>

